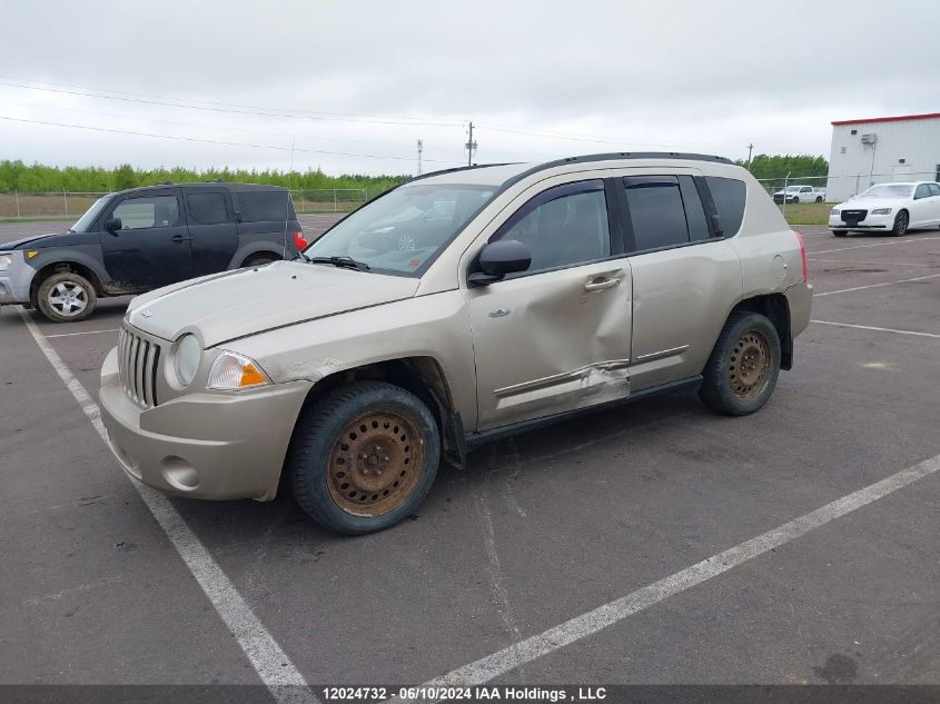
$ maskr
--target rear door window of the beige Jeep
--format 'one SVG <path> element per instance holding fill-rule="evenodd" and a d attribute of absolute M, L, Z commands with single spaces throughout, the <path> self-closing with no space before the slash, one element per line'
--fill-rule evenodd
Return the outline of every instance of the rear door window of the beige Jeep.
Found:
<path fill-rule="evenodd" d="M 637 250 L 690 241 L 675 176 L 629 176 L 623 185 Z"/>

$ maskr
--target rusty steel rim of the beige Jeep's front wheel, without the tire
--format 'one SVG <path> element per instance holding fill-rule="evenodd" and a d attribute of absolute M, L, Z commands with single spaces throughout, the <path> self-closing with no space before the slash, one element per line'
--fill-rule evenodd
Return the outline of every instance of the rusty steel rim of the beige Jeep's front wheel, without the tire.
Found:
<path fill-rule="evenodd" d="M 424 474 L 424 439 L 397 410 L 370 410 L 350 420 L 329 453 L 327 487 L 348 514 L 374 518 L 399 508 Z"/>

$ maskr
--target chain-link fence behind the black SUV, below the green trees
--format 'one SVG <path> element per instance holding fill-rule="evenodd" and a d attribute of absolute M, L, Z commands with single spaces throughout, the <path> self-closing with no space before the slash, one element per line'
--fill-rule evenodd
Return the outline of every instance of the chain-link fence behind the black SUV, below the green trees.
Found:
<path fill-rule="evenodd" d="M 0 192 L 0 218 L 78 219 L 108 192 L 21 191 Z M 349 212 L 369 199 L 368 188 L 291 189 L 294 208 L 305 212 Z M 378 192 L 372 194 L 373 197 Z"/>

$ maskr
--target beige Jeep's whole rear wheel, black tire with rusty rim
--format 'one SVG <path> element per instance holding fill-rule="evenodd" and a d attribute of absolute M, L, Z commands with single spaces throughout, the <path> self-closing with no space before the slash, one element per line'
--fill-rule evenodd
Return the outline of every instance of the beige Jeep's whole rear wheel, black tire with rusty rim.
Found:
<path fill-rule="evenodd" d="M 719 335 L 702 371 L 699 396 L 712 410 L 745 416 L 766 403 L 779 374 L 780 337 L 773 323 L 758 313 L 739 310 L 729 316 Z"/>

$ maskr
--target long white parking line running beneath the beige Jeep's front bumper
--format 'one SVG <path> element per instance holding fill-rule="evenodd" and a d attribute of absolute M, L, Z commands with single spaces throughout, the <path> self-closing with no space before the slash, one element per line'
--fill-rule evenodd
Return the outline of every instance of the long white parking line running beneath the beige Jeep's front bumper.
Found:
<path fill-rule="evenodd" d="M 39 349 L 46 355 L 49 364 L 75 396 L 78 405 L 88 416 L 92 427 L 107 444 L 108 432 L 101 423 L 101 409 L 89 396 L 81 383 L 72 375 L 59 354 L 39 331 L 36 324 L 27 314 L 19 311 L 27 329 L 36 339 Z M 196 582 L 215 606 L 231 635 L 241 646 L 248 661 L 255 667 L 261 682 L 280 704 L 316 703 L 317 698 L 306 687 L 306 680 L 300 671 L 290 662 L 287 654 L 268 633 L 238 589 L 209 554 L 195 533 L 186 525 L 176 507 L 160 492 L 151 489 L 140 482 L 131 482 L 133 488 L 147 504 L 150 513 L 160 524 L 164 533 L 172 543 Z"/>

